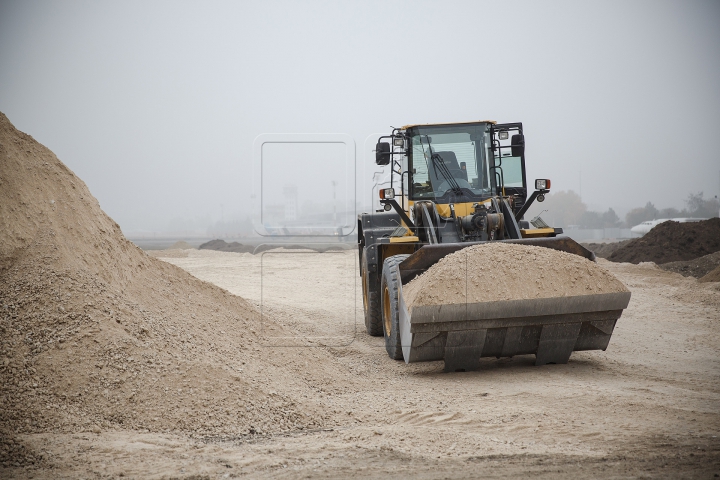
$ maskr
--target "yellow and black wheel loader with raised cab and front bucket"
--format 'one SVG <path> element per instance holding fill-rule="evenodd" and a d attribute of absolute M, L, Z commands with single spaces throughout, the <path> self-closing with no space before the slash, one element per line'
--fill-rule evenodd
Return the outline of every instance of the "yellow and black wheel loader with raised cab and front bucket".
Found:
<path fill-rule="evenodd" d="M 482 357 L 534 354 L 543 365 L 607 348 L 629 292 L 424 306 L 412 315 L 405 305 L 403 285 L 473 244 L 535 245 L 595 261 L 558 237 L 562 229 L 523 219 L 550 180 L 535 180 L 529 194 L 521 123 L 394 128 L 379 139 L 375 161 L 390 166 L 390 188 L 377 192 L 379 210 L 358 215 L 360 275 L 367 333 L 384 335 L 391 358 L 444 360 L 446 371 L 464 371 Z"/>

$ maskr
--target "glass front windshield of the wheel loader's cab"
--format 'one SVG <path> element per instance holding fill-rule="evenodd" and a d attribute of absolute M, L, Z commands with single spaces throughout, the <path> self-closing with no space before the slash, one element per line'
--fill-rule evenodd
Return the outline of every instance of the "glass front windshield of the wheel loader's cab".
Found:
<path fill-rule="evenodd" d="M 408 133 L 411 198 L 485 196 L 492 192 L 487 124 L 414 127 Z"/>

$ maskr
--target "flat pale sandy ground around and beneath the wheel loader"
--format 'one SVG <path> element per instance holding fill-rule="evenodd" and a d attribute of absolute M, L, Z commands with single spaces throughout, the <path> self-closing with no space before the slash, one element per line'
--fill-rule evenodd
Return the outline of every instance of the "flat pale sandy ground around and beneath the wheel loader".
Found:
<path fill-rule="evenodd" d="M 232 438 L 141 431 L 24 435 L 35 478 L 712 478 L 720 475 L 720 284 L 599 263 L 632 291 L 605 352 L 567 365 L 483 359 L 477 372 L 390 360 L 364 333 L 356 252 L 156 252 L 241 295 L 316 351 L 317 401 L 339 426 Z M 332 288 L 330 288 L 332 287 Z M 295 346 L 288 346 L 295 345 Z M 300 346 L 305 345 L 305 346 Z M 315 345 L 315 346 L 312 346 Z M 321 346 L 317 346 L 321 345 Z M 306 364 L 313 369 L 313 365 Z M 313 380 L 313 378 L 315 378 Z"/>

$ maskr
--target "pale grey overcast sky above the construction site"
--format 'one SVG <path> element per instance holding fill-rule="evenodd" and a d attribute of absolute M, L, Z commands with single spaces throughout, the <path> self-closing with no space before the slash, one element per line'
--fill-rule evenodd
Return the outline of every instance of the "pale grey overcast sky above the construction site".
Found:
<path fill-rule="evenodd" d="M 591 208 L 682 207 L 720 194 L 720 2 L 3 0 L 0 111 L 126 233 L 250 213 L 260 134 L 349 135 L 363 199 L 369 135 L 479 119 Z"/>

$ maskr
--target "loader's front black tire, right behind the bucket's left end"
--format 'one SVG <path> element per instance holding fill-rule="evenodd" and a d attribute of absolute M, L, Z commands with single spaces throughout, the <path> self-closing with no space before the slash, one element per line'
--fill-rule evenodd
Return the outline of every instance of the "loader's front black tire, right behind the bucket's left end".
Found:
<path fill-rule="evenodd" d="M 385 335 L 385 350 L 393 360 L 403 359 L 402 345 L 400 344 L 400 300 L 398 299 L 400 274 L 396 267 L 409 256 L 393 255 L 386 258 L 380 282 L 380 311 Z"/>

